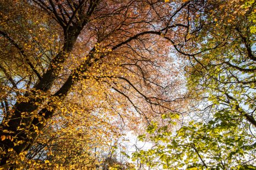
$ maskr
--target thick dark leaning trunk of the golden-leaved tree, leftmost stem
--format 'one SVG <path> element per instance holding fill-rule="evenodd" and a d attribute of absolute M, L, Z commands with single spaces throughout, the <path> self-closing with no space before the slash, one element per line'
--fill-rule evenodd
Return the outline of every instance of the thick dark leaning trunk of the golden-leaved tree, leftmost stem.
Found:
<path fill-rule="evenodd" d="M 12 154 L 18 155 L 23 151 L 29 150 L 38 136 L 36 130 L 41 131 L 47 119 L 52 116 L 54 110 L 49 111 L 46 108 L 41 111 L 38 110 L 39 106 L 36 105 L 35 102 L 42 103 L 42 100 L 35 98 L 34 95 L 37 90 L 47 92 L 51 89 L 54 80 L 61 71 L 61 65 L 66 61 L 68 54 L 72 51 L 82 29 L 82 27 L 69 27 L 68 33 L 65 35 L 62 51 L 52 60 L 51 65 L 33 90 L 24 95 L 25 98 L 28 98 L 28 101 L 17 101 L 12 111 L 10 111 L 9 116 L 4 117 L 0 124 L 0 137 L 5 138 L 0 141 L 0 166 L 6 165 L 12 158 Z M 67 81 L 70 82 L 69 79 Z M 62 97 L 65 97 L 71 88 L 71 86 L 67 86 L 67 83 L 64 85 L 65 88 L 63 89 L 62 87 L 62 89 L 66 92 L 63 93 L 65 95 L 62 94 Z M 33 115 L 35 112 L 37 112 L 37 114 Z M 9 136 L 12 138 L 7 138 Z M 14 145 L 17 141 L 23 141 L 23 143 Z M 11 148 L 13 151 L 9 150 Z M 12 163 L 10 163 L 10 168 L 12 168 Z"/>

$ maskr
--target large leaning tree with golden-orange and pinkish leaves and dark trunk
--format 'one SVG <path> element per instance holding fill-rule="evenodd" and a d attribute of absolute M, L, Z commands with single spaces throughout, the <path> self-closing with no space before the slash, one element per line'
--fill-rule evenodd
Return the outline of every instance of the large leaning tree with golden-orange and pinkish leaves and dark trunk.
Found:
<path fill-rule="evenodd" d="M 69 135 L 64 128 L 72 127 L 69 131 L 79 137 L 90 135 L 96 120 L 101 128 L 107 123 L 118 127 L 116 115 L 136 127 L 140 117 L 149 121 L 170 110 L 181 112 L 184 93 L 177 92 L 183 82 L 172 70 L 166 44 L 177 48 L 178 42 L 189 41 L 183 38 L 188 30 L 200 30 L 203 23 L 190 22 L 203 5 L 2 1 L 0 165 L 18 166 L 45 131 Z M 73 117 L 73 124 L 85 117 L 92 125 L 69 126 Z M 112 133 L 115 128 L 102 129 Z"/>

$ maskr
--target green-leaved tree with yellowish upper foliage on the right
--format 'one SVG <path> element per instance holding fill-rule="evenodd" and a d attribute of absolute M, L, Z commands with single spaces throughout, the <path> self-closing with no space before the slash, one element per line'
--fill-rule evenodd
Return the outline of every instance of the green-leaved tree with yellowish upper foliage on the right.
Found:
<path fill-rule="evenodd" d="M 159 158 L 165 168 L 255 169 L 255 3 L 209 3 L 204 20 L 213 24 L 192 37 L 200 52 L 178 49 L 189 59 L 187 87 L 198 111 L 172 134 L 167 127 L 149 128 L 158 145 L 134 156 L 143 162 Z"/>

